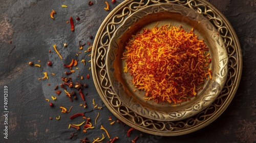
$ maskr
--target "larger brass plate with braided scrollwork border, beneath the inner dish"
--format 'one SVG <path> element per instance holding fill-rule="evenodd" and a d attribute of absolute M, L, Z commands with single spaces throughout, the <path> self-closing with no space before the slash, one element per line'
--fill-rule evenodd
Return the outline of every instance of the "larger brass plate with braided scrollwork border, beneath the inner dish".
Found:
<path fill-rule="evenodd" d="M 124 103 L 123 100 L 120 99 L 120 94 L 116 93 L 116 90 L 114 89 L 115 87 L 118 87 L 118 85 L 116 85 L 114 82 L 111 83 L 113 79 L 110 79 L 111 75 L 108 74 L 110 68 L 108 69 L 107 65 L 111 65 L 111 63 L 106 62 L 108 58 L 106 55 L 109 55 L 108 52 L 110 51 L 110 41 L 112 40 L 114 33 L 117 31 L 117 29 L 121 27 L 123 23 L 125 23 L 124 21 L 126 18 L 129 18 L 134 13 L 136 14 L 136 12 L 144 8 L 146 9 L 146 7 L 153 7 L 154 5 L 162 4 L 176 4 L 184 6 L 188 9 L 194 10 L 194 13 L 199 13 L 201 16 L 208 19 L 211 25 L 214 26 L 215 29 L 217 29 L 217 31 L 219 32 L 218 34 L 222 37 L 224 47 L 228 55 L 228 70 L 226 70 L 227 80 L 225 80 L 225 76 L 223 76 L 224 87 L 221 88 L 221 86 L 217 86 L 217 89 L 222 90 L 216 93 L 217 95 L 215 97 L 215 100 L 211 102 L 208 106 L 202 107 L 200 109 L 201 111 L 195 112 L 192 116 L 188 115 L 182 119 L 169 118 L 169 120 L 165 120 L 161 117 L 152 118 L 145 116 L 145 114 L 141 114 L 141 112 L 135 111 L 133 108 L 129 107 L 129 104 Z M 188 18 L 195 19 L 193 17 Z M 198 28 L 197 30 L 200 31 L 200 28 Z M 200 32 L 203 33 L 203 31 Z M 208 34 L 203 36 L 207 35 Z M 208 40 L 207 42 L 210 41 Z M 212 52 L 214 51 L 210 51 L 211 54 Z M 216 60 L 215 62 L 217 61 L 220 61 L 220 59 Z M 211 66 L 215 66 L 215 64 Z M 236 93 L 238 84 L 240 82 L 242 73 L 242 56 L 238 38 L 236 36 L 236 33 L 233 31 L 230 23 L 223 16 L 223 14 L 221 14 L 218 10 L 216 10 L 214 6 L 212 6 L 208 2 L 149 0 L 125 1 L 117 6 L 108 15 L 108 17 L 106 17 L 98 30 L 92 50 L 92 70 L 94 83 L 101 99 L 110 109 L 110 111 L 121 121 L 125 122 L 131 127 L 134 127 L 137 130 L 146 133 L 164 136 L 175 136 L 194 132 L 207 126 L 227 108 L 234 94 Z M 219 71 L 220 70 L 218 69 L 218 71 L 216 72 L 218 73 Z M 211 83 L 210 85 L 215 84 Z M 194 101 L 197 101 L 198 99 L 195 98 L 193 99 L 193 102 L 189 103 L 195 104 L 196 102 Z M 183 106 L 186 106 L 186 104 L 180 106 L 181 109 L 184 110 Z M 155 112 L 152 113 L 153 116 L 154 114 Z"/>

